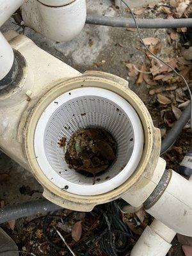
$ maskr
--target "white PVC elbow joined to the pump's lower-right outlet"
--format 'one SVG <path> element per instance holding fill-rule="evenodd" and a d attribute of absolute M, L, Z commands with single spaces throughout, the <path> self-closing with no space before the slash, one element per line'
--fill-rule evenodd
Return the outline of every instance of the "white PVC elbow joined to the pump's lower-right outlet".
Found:
<path fill-rule="evenodd" d="M 192 236 L 192 182 L 176 172 L 149 214 L 184 236 Z"/>

